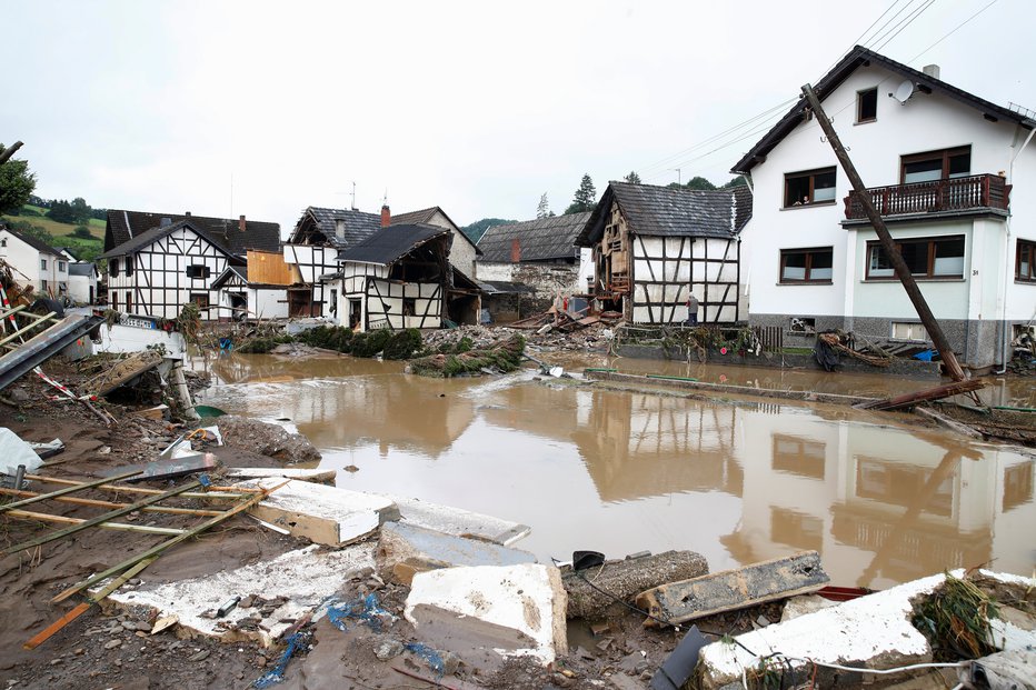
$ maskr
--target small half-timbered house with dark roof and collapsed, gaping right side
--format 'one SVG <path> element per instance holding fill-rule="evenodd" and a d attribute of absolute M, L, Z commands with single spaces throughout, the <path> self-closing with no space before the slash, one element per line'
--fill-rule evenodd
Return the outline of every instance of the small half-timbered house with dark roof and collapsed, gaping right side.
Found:
<path fill-rule="evenodd" d="M 356 330 L 439 328 L 454 272 L 451 234 L 435 226 L 385 228 L 338 254 L 340 322 Z"/>

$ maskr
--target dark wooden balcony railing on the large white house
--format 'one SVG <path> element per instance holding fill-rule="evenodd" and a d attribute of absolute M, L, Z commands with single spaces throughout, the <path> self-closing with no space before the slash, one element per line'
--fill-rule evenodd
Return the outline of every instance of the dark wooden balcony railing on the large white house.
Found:
<path fill-rule="evenodd" d="M 1007 211 L 1010 184 L 998 174 L 973 174 L 966 178 L 871 187 L 866 191 L 881 216 L 908 216 L 938 212 L 965 212 L 983 209 Z M 845 198 L 846 220 L 866 220 L 864 204 L 856 192 Z"/>

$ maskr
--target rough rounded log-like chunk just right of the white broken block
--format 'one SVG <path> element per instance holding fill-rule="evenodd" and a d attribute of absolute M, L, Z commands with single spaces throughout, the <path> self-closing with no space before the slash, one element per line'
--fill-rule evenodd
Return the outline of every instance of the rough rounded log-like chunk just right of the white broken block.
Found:
<path fill-rule="evenodd" d="M 656 556 L 605 561 L 604 567 L 579 571 L 562 568 L 561 582 L 568 591 L 568 617 L 604 618 L 607 609 L 616 603 L 610 594 L 629 601 L 647 589 L 697 578 L 708 571 L 705 557 L 694 551 L 666 551 Z M 587 583 L 587 580 L 599 589 Z"/>

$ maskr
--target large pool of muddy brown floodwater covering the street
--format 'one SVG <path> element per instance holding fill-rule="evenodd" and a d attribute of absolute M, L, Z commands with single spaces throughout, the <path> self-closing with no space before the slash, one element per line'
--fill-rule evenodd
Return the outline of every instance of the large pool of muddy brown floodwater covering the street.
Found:
<path fill-rule="evenodd" d="M 546 357 L 546 356 L 545 356 Z M 934 383 L 552 356 L 763 388 L 888 396 Z M 903 417 L 750 399 L 695 400 L 501 378 L 426 379 L 395 362 L 225 354 L 201 402 L 293 422 L 338 484 L 532 527 L 540 560 L 691 549 L 711 569 L 821 552 L 833 583 L 883 589 L 947 568 L 1036 564 L 1036 456 Z M 1033 384 L 989 402 L 1036 407 Z M 343 471 L 345 468 L 356 471 Z"/>

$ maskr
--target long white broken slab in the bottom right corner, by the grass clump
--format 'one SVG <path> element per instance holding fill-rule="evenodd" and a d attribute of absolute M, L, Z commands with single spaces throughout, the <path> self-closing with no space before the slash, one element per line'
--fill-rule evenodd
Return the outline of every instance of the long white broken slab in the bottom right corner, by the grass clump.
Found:
<path fill-rule="evenodd" d="M 950 574 L 960 578 L 964 571 Z M 982 574 L 1036 587 L 1033 578 L 986 571 Z M 714 642 L 701 650 L 700 687 L 708 690 L 740 683 L 743 672 L 751 673 L 758 668 L 759 657 L 755 654 L 777 650 L 787 657 L 788 666 L 783 661 L 781 666 L 793 674 L 791 682 L 808 679 L 813 667 L 806 659 L 870 669 L 928 662 L 932 660 L 928 640 L 910 623 L 912 600 L 932 593 L 944 581 L 944 574 L 923 578 L 737 636 L 738 644 Z M 853 680 L 859 680 L 855 676 Z"/>

